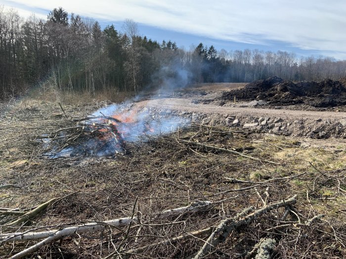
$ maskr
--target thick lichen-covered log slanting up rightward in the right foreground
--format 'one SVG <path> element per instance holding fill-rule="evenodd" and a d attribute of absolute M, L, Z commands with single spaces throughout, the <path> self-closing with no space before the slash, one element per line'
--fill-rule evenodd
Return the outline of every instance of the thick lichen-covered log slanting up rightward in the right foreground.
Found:
<path fill-rule="evenodd" d="M 282 200 L 279 202 L 275 202 L 272 204 L 269 204 L 245 217 L 243 217 L 240 220 L 236 220 L 237 216 L 235 218 L 226 219 L 222 221 L 216 230 L 210 235 L 210 237 L 205 241 L 205 244 L 200 249 L 200 251 L 197 253 L 197 255 L 193 259 L 200 259 L 204 257 L 207 253 L 211 253 L 215 250 L 215 247 L 226 240 L 226 238 L 229 236 L 229 234 L 236 228 L 247 225 L 257 218 L 259 216 L 263 215 L 264 213 L 267 213 L 273 209 L 277 209 L 280 207 L 284 207 L 287 205 L 293 205 L 296 203 L 296 197 L 297 195 L 294 195 L 292 198 L 287 200 Z"/>

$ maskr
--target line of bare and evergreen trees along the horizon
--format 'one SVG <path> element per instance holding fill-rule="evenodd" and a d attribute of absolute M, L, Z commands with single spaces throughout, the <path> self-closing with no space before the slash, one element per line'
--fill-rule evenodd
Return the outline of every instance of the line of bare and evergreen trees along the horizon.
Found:
<path fill-rule="evenodd" d="M 204 82 L 339 79 L 346 61 L 297 58 L 286 51 L 219 51 L 200 43 L 189 50 L 140 36 L 133 20 L 122 30 L 55 8 L 47 19 L 26 20 L 0 6 L 0 98 L 33 85 L 62 91 L 142 91 Z"/>

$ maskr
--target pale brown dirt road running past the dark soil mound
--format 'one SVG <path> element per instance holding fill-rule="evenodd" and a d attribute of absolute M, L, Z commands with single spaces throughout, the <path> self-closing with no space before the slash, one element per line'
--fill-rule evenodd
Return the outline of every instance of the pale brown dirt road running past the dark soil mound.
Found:
<path fill-rule="evenodd" d="M 200 113 L 215 113 L 228 114 L 235 116 L 253 116 L 253 117 L 281 117 L 288 120 L 298 119 L 343 119 L 346 118 L 346 112 L 335 111 L 297 111 L 297 110 L 275 110 L 261 109 L 251 107 L 221 107 L 210 104 L 193 104 L 191 99 L 180 98 L 164 98 L 150 101 L 143 101 L 139 104 L 142 106 L 171 109 L 174 111 L 200 112 Z"/>

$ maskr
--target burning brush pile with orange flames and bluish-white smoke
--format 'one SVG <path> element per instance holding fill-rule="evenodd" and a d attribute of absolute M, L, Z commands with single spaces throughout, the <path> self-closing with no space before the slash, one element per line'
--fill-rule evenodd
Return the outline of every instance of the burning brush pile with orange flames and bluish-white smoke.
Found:
<path fill-rule="evenodd" d="M 148 108 L 129 104 L 111 105 L 83 118 L 68 116 L 66 127 L 36 138 L 43 143 L 45 156 L 113 156 L 126 152 L 127 143 L 145 141 L 145 137 L 158 136 L 184 127 L 184 118 L 166 113 L 154 114 Z"/>

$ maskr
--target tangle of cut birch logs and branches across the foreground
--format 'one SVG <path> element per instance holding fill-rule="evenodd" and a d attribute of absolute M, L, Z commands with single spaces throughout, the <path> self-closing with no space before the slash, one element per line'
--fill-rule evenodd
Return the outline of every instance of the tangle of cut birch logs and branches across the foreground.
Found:
<path fill-rule="evenodd" d="M 41 226 L 16 232 L 10 231 L 20 229 L 23 223 L 30 222 L 38 213 L 48 207 L 56 206 L 66 197 L 51 199 L 29 212 L 1 208 L 0 215 L 6 215 L 9 222 L 6 222 L 2 227 L 0 244 L 5 247 L 14 246 L 11 259 L 20 259 L 36 253 L 56 241 L 60 241 L 61 244 L 63 239 L 71 236 L 82 238 L 86 233 L 101 232 L 103 233 L 102 242 L 108 244 L 110 251 L 113 250 L 104 259 L 144 257 L 155 250 L 161 250 L 164 247 L 165 249 L 174 248 L 175 246 L 186 245 L 187 242 L 191 241 L 203 242 L 201 242 L 200 248 L 188 258 L 200 259 L 212 255 L 224 257 L 229 255 L 227 252 L 223 252 L 221 248 L 230 236 L 241 236 L 242 228 L 261 222 L 263 226 L 269 225 L 269 227 L 262 230 L 263 232 L 260 233 L 262 237 L 258 243 L 251 249 L 238 247 L 238 253 L 234 255 L 236 258 L 250 258 L 257 255 L 256 258 L 269 259 L 274 253 L 275 245 L 280 242 L 283 236 L 290 236 L 293 238 L 292 244 L 297 245 L 302 238 L 306 238 L 307 232 L 305 230 L 324 217 L 324 215 L 316 215 L 302 222 L 298 215 L 299 212 L 294 207 L 297 203 L 297 195 L 275 202 L 262 199 L 262 207 L 249 206 L 234 215 L 216 217 L 221 207 L 225 204 L 232 204 L 238 198 L 239 195 L 218 201 L 195 200 L 187 206 L 145 215 L 137 206 L 137 196 L 133 202 L 132 212 L 128 217 L 102 222 L 91 221 L 80 225 L 62 225 L 55 228 Z M 13 220 L 13 217 L 17 218 Z M 188 225 L 188 220 L 191 218 L 204 219 L 203 221 L 210 221 L 212 224 L 198 228 L 199 224 Z M 292 220 L 294 218 L 296 220 Z M 239 234 L 236 234 L 237 232 Z M 293 234 L 294 232 L 297 232 L 296 235 Z M 143 242 L 146 245 L 142 245 Z M 21 247 L 23 247 L 22 250 L 18 251 Z"/>

